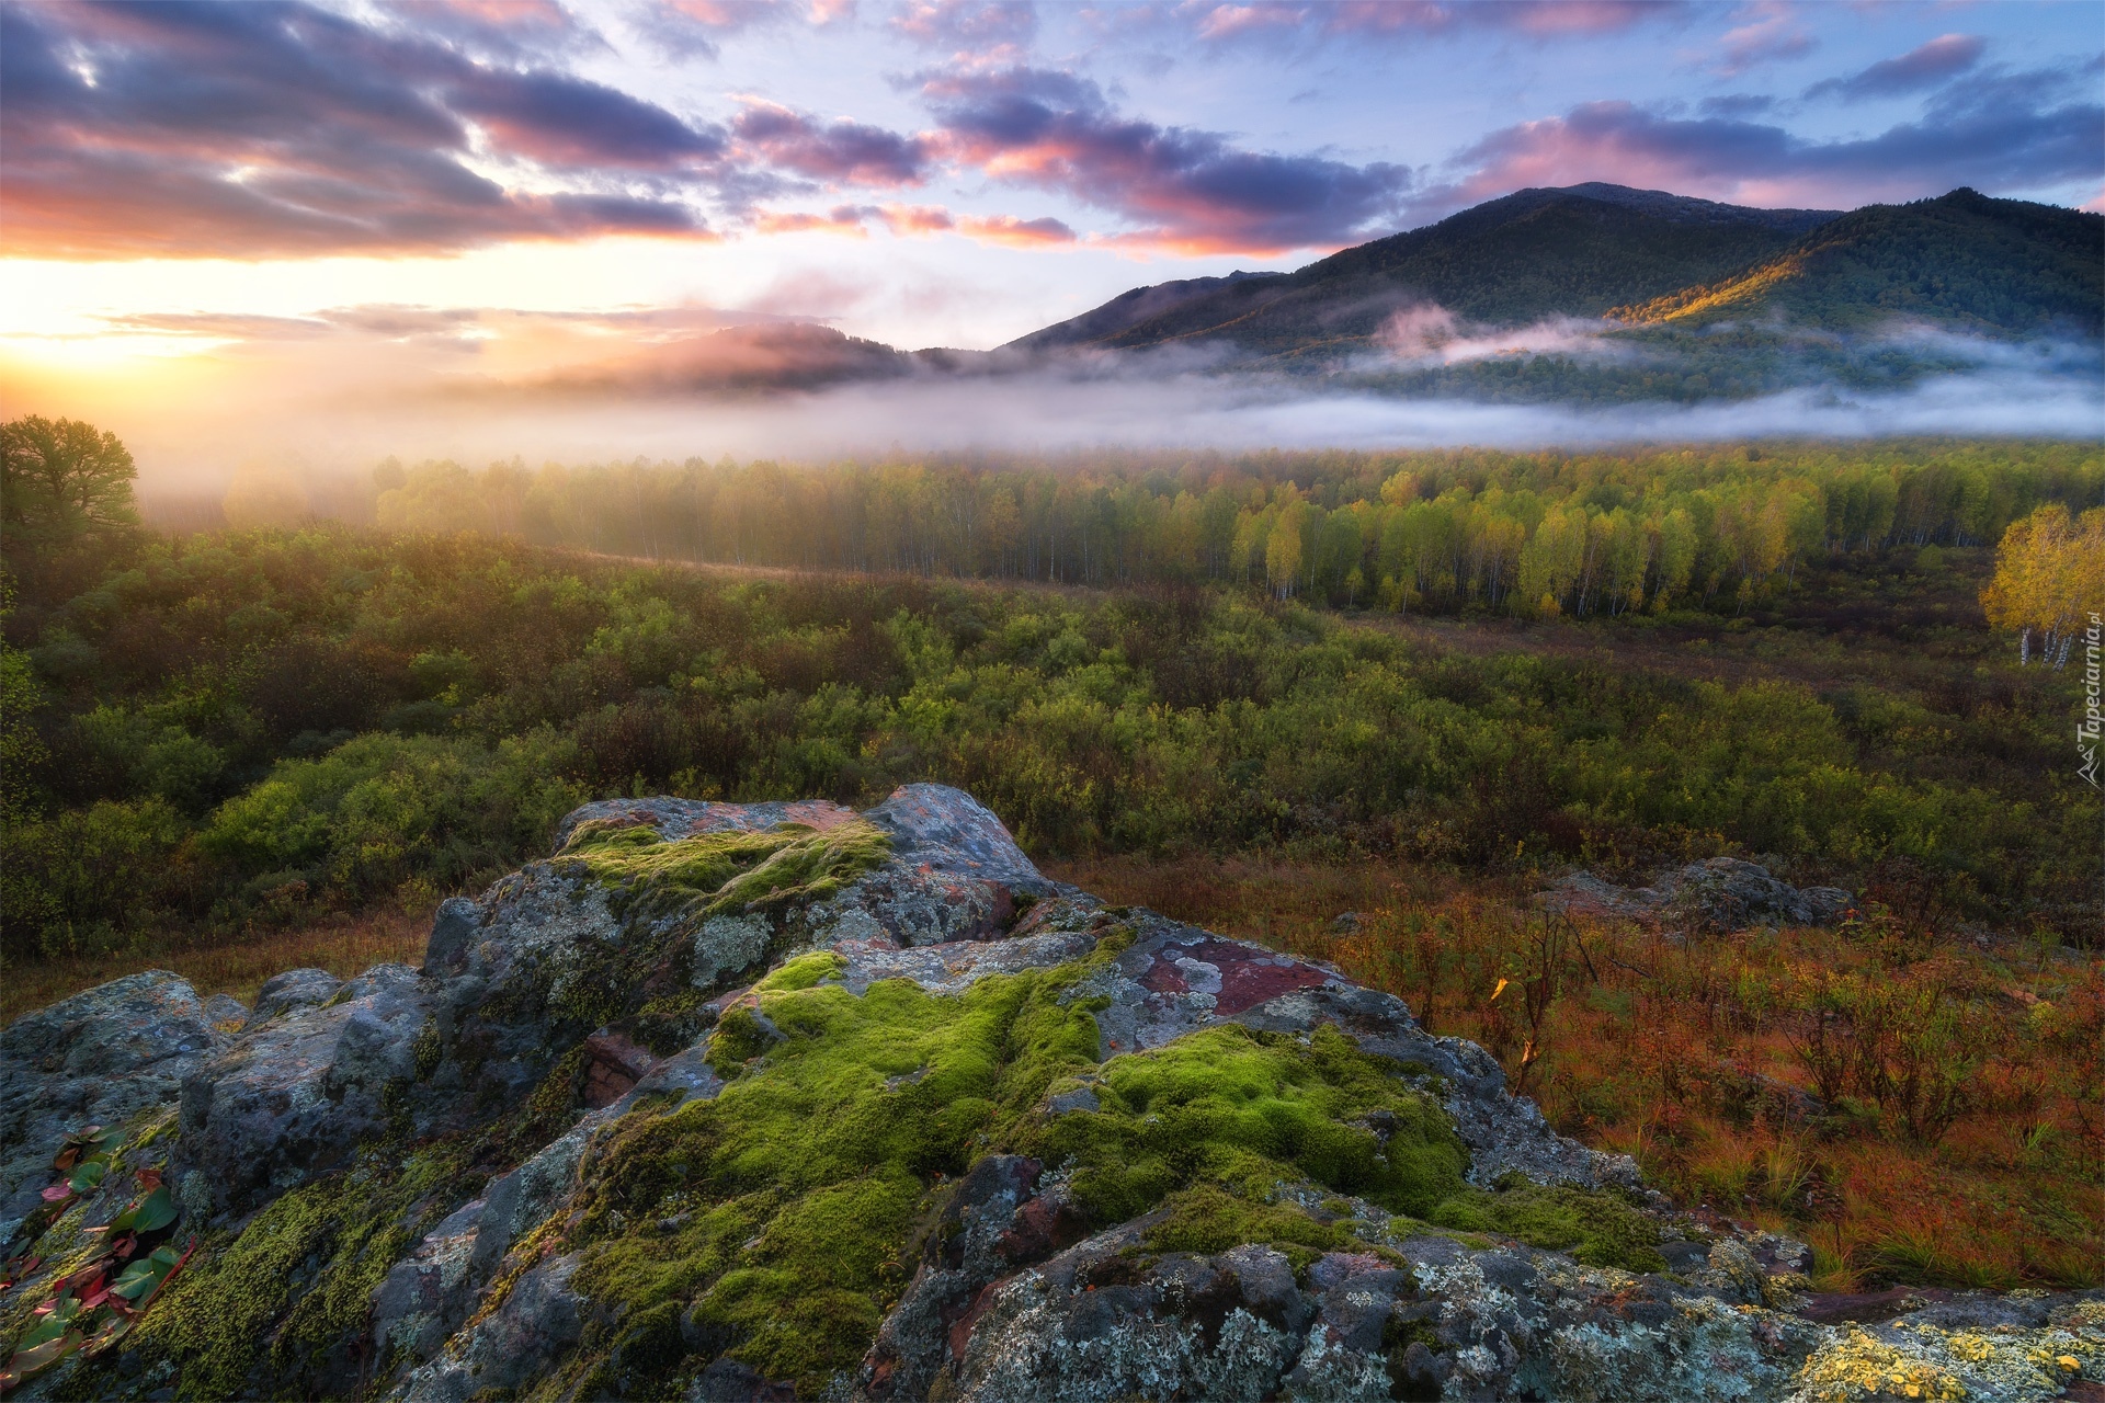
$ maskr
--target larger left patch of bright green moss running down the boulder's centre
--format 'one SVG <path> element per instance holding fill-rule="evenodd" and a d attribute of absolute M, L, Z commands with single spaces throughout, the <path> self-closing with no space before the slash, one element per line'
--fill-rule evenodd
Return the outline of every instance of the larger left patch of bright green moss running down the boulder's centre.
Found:
<path fill-rule="evenodd" d="M 907 980 L 857 997 L 825 982 L 838 968 L 806 955 L 756 987 L 779 1039 L 747 1045 L 758 1018 L 724 1018 L 720 1052 L 754 1062 L 718 1100 L 615 1127 L 579 1228 L 579 1287 L 615 1304 L 613 1319 L 678 1302 L 690 1331 L 806 1395 L 867 1350 L 933 1191 L 1097 1052 L 1088 1003 L 1061 1003 L 1086 963 L 956 997 Z M 669 1355 L 625 1340 L 604 1327 L 583 1342 L 600 1359 L 594 1388 L 676 1395 Z"/>

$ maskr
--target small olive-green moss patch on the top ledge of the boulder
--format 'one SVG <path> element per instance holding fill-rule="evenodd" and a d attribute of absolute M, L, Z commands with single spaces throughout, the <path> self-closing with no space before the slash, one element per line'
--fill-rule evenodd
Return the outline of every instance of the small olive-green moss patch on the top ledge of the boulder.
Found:
<path fill-rule="evenodd" d="M 617 894 L 625 913 L 726 915 L 831 896 L 884 862 L 893 843 L 865 818 L 819 831 L 785 822 L 766 833 L 697 833 L 674 841 L 653 829 L 581 822 L 564 843 Z"/>

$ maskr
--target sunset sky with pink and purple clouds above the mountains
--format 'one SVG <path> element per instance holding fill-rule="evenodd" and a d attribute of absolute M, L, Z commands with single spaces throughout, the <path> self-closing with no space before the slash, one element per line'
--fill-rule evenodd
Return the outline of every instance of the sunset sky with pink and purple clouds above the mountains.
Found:
<path fill-rule="evenodd" d="M 0 389 L 985 349 L 1528 185 L 2105 208 L 2105 6 L 0 2 Z"/>

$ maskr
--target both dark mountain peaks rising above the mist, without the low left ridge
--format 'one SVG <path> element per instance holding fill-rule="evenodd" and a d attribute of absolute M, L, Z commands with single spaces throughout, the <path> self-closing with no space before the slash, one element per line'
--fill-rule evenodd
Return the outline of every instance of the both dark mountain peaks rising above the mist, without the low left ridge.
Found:
<path fill-rule="evenodd" d="M 1972 189 L 1848 215 L 1602 183 L 1522 189 L 1292 273 L 1135 288 L 1004 349 L 1210 343 L 1316 366 L 1372 345 L 1398 309 L 1423 303 L 1490 330 L 1556 316 L 1859 330 L 1905 316 L 2099 337 L 2105 217 Z"/>

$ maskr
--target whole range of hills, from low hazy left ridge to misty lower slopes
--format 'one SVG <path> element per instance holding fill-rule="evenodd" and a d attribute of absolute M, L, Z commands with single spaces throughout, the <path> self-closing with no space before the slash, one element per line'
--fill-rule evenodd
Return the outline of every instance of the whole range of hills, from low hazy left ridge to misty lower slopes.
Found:
<path fill-rule="evenodd" d="M 1370 355 L 1398 311 L 1438 305 L 1448 360 Z M 1551 349 L 1484 353 L 1482 332 L 1593 322 Z M 1282 368 L 1396 395 L 1713 400 L 1791 385 L 1897 389 L 1960 372 L 1951 347 L 1848 334 L 1892 318 L 1968 332 L 2105 334 L 2105 217 L 1956 189 L 1916 204 L 1758 210 L 1623 185 L 1522 189 L 1290 273 L 1132 288 L 998 351 L 901 351 L 768 322 L 655 345 L 512 387 L 751 395 L 901 377 L 983 377 L 1071 349 L 1204 345 L 1221 368 Z M 1812 334 L 1808 334 L 1812 332 Z"/>

